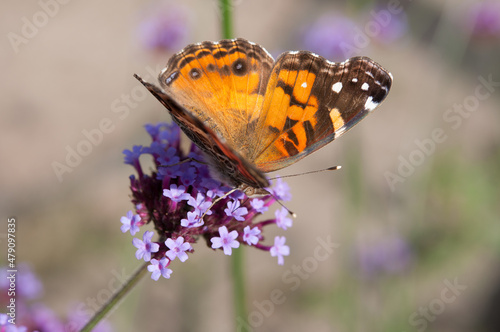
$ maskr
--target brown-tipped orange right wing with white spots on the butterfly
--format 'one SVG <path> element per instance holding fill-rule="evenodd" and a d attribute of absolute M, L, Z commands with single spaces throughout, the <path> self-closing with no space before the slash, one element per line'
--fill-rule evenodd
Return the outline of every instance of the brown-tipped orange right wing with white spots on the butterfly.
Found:
<path fill-rule="evenodd" d="M 289 166 L 339 137 L 387 96 L 392 77 L 367 57 L 330 62 L 282 54 L 273 68 L 249 158 L 264 172 Z"/>

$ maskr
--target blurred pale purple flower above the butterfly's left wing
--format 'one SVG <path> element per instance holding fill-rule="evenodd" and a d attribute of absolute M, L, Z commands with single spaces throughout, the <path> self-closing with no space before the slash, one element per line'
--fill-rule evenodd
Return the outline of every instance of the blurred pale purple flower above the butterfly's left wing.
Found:
<path fill-rule="evenodd" d="M 140 40 L 149 49 L 177 52 L 189 35 L 188 13 L 174 3 L 154 6 L 139 26 Z"/>

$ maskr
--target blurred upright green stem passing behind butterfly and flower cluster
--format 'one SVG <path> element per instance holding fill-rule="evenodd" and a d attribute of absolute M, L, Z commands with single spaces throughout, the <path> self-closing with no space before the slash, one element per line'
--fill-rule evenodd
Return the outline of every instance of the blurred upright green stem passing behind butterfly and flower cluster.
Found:
<path fill-rule="evenodd" d="M 220 10 L 222 14 L 222 38 L 233 38 L 233 6 L 231 0 L 219 0 Z M 237 250 L 233 250 L 231 255 L 231 273 L 233 277 L 233 296 L 234 296 L 234 310 L 237 318 L 246 320 L 246 294 L 245 294 L 245 280 L 244 280 L 244 261 L 243 261 L 243 248 L 240 246 Z"/>

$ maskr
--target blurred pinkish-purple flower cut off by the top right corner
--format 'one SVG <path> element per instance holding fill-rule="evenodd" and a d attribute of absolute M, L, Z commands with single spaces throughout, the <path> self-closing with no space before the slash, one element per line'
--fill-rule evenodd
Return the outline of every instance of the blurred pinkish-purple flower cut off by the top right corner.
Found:
<path fill-rule="evenodd" d="M 500 36 L 500 1 L 481 1 L 467 12 L 468 28 L 476 37 Z"/>

